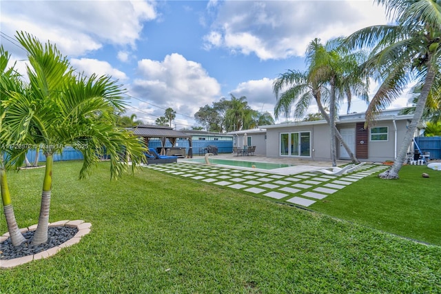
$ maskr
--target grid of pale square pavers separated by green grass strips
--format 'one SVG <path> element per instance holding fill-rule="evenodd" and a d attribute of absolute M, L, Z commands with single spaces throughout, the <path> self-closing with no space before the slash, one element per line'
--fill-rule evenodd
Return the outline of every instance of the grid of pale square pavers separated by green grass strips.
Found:
<path fill-rule="evenodd" d="M 146 168 L 307 207 L 363 177 L 379 173 L 388 166 L 365 164 L 353 173 L 341 176 L 322 175 L 310 171 L 300 174 L 284 172 L 280 175 L 271 170 L 243 170 L 225 166 L 190 164 L 185 161 L 176 164 L 150 165 Z"/>

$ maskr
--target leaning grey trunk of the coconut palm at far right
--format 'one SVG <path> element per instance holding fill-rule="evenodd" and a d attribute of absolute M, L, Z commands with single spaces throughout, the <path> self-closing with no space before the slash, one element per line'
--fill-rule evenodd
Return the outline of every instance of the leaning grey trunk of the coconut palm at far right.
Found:
<path fill-rule="evenodd" d="M 433 81 L 435 80 L 435 70 L 430 65 L 430 58 L 427 62 L 427 75 L 420 96 L 418 97 L 418 103 L 416 104 L 415 112 L 413 113 L 413 118 L 409 128 L 407 128 L 406 135 L 402 140 L 400 150 L 398 151 L 397 158 L 393 163 L 391 169 L 386 170 L 384 173 L 380 173 L 378 177 L 382 179 L 398 179 L 398 172 L 400 171 L 404 160 L 406 160 L 407 150 L 412 142 L 413 136 L 415 135 L 415 130 L 421 121 L 422 114 L 424 112 L 424 106 L 426 106 L 427 97 L 429 97 L 429 92 L 432 87 Z"/>

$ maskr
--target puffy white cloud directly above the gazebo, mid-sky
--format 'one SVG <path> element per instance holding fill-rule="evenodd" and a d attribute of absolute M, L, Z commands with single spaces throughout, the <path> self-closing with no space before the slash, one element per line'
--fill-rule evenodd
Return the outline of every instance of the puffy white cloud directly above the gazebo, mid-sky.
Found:
<path fill-rule="evenodd" d="M 218 81 L 209 77 L 200 63 L 177 53 L 165 56 L 163 61 L 142 59 L 138 71 L 139 78 L 130 86 L 130 94 L 155 106 L 171 107 L 181 115 L 192 117 L 201 106 L 211 105 L 220 97 Z M 155 109 L 153 115 L 164 114 L 163 109 Z"/>

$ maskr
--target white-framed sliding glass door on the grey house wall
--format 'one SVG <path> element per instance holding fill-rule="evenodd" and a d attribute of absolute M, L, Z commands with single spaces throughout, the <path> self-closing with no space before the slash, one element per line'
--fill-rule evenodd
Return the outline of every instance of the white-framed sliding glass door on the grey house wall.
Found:
<path fill-rule="evenodd" d="M 280 134 L 280 155 L 311 157 L 311 133 Z"/>

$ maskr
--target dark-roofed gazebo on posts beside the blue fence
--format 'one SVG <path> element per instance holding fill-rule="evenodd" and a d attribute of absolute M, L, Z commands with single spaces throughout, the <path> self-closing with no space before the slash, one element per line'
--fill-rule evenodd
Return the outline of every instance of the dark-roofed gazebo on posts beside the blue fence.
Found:
<path fill-rule="evenodd" d="M 173 130 L 170 126 L 139 125 L 129 128 L 136 137 L 143 137 L 145 145 L 149 146 L 150 138 L 158 138 L 161 141 L 161 155 L 165 155 L 165 142 L 168 139 L 174 148 L 178 138 L 186 138 L 189 142 L 187 156 L 193 158 L 192 136 Z"/>

